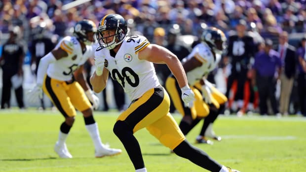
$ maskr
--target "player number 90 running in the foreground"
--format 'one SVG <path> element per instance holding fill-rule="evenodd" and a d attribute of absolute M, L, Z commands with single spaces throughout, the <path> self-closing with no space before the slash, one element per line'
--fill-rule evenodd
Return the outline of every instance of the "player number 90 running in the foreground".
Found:
<path fill-rule="evenodd" d="M 178 80 L 183 102 L 189 105 L 194 94 L 178 58 L 166 48 L 150 44 L 146 37 L 127 36 L 127 32 L 127 23 L 122 16 L 108 14 L 101 19 L 97 33 L 100 47 L 95 53 L 96 71 L 90 82 L 95 92 L 101 92 L 110 73 L 131 99 L 130 106 L 118 116 L 113 130 L 136 172 L 147 172 L 140 145 L 134 136 L 143 128 L 194 164 L 212 172 L 229 172 L 228 168 L 192 146 L 169 113 L 170 98 L 159 84 L 153 63 L 169 67 Z"/>

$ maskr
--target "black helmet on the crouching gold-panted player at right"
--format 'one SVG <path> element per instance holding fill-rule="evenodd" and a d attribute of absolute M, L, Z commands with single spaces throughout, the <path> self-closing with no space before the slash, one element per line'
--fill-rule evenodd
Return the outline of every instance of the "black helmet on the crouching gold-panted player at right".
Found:
<path fill-rule="evenodd" d="M 204 29 L 201 35 L 201 41 L 205 42 L 215 53 L 222 54 L 227 48 L 227 37 L 215 27 Z"/>

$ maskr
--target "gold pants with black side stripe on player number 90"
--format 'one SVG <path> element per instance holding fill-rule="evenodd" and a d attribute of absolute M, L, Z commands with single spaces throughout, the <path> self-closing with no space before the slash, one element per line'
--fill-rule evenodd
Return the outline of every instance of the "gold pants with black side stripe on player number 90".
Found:
<path fill-rule="evenodd" d="M 185 136 L 170 115 L 169 107 L 170 98 L 164 88 L 153 88 L 132 103 L 117 120 L 125 121 L 133 133 L 146 128 L 163 145 L 174 149 Z"/>

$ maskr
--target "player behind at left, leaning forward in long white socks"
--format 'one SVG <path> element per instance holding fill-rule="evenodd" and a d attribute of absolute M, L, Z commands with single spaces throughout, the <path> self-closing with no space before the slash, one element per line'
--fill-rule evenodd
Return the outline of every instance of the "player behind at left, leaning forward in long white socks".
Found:
<path fill-rule="evenodd" d="M 93 107 L 97 109 L 99 98 L 89 88 L 83 75 L 83 64 L 89 57 L 94 56 L 96 46 L 93 42 L 96 32 L 97 27 L 93 21 L 84 19 L 77 22 L 74 36 L 64 37 L 51 52 L 41 58 L 37 85 L 29 92 L 30 101 L 33 101 L 41 98 L 43 91 L 65 117 L 54 146 L 55 152 L 61 158 L 72 158 L 65 142 L 74 124 L 76 109 L 83 113 L 86 129 L 94 142 L 95 157 L 121 153 L 120 149 L 109 148 L 101 141 L 90 104 L 92 102 Z"/>

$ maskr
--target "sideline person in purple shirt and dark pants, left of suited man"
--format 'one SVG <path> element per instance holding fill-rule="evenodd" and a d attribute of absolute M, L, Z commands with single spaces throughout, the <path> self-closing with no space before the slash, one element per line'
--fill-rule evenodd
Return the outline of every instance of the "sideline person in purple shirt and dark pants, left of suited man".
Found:
<path fill-rule="evenodd" d="M 252 78 L 253 86 L 257 86 L 259 93 L 260 114 L 268 114 L 267 100 L 269 99 L 273 113 L 278 115 L 275 90 L 281 69 L 281 60 L 278 52 L 272 49 L 273 42 L 271 39 L 266 39 L 260 46 L 262 46 L 262 51 L 255 54 Z M 275 75 L 275 73 L 278 75 Z"/>

